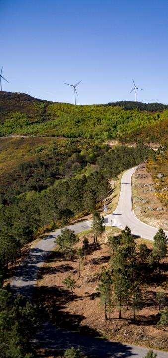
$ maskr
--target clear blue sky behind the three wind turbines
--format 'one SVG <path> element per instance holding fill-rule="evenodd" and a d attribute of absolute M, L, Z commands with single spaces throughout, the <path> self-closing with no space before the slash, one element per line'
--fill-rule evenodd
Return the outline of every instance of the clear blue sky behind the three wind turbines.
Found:
<path fill-rule="evenodd" d="M 168 104 L 168 0 L 0 0 L 3 90 L 79 104 Z"/>

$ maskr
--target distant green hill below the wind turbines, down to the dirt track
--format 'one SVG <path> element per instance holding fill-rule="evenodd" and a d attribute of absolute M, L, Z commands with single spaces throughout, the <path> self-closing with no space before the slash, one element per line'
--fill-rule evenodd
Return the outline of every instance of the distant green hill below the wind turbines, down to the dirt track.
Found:
<path fill-rule="evenodd" d="M 165 141 L 168 105 L 120 101 L 76 105 L 0 92 L 0 136 L 11 134 Z"/>

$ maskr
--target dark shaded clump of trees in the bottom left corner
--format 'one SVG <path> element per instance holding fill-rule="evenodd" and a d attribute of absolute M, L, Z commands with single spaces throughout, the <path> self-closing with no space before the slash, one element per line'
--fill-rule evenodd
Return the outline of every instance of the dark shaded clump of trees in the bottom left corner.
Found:
<path fill-rule="evenodd" d="M 33 358 L 30 340 L 36 332 L 36 309 L 18 295 L 0 289 L 0 357 Z"/>

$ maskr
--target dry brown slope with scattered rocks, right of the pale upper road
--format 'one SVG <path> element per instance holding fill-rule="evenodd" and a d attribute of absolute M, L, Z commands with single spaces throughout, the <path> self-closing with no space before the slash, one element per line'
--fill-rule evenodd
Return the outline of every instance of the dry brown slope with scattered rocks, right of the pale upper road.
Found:
<path fill-rule="evenodd" d="M 157 197 L 155 183 L 146 163 L 138 166 L 133 179 L 133 209 L 139 220 L 168 230 L 168 209 Z"/>

